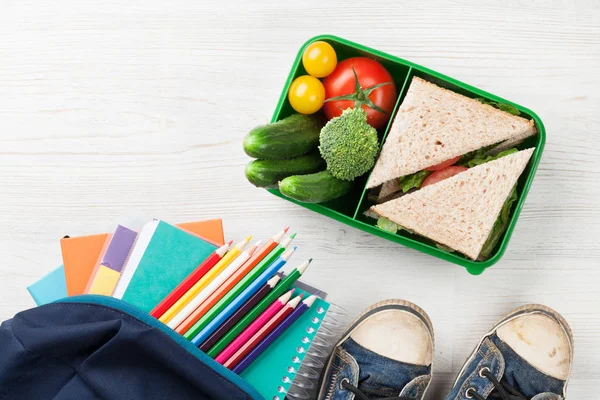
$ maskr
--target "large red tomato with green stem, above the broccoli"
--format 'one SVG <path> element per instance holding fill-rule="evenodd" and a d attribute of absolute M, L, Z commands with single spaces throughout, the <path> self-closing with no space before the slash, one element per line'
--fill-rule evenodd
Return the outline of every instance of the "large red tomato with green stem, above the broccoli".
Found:
<path fill-rule="evenodd" d="M 355 75 L 356 73 L 356 75 Z M 357 93 L 356 79 L 361 90 Z M 373 88 L 375 85 L 388 83 Z M 338 117 L 347 108 L 360 105 L 367 112 L 367 122 L 375 129 L 385 126 L 396 103 L 396 85 L 392 75 L 379 62 L 366 57 L 353 57 L 341 61 L 323 80 L 325 98 L 355 95 L 355 99 L 326 101 L 323 111 L 327 119 Z M 384 112 L 377 111 L 369 105 Z"/>

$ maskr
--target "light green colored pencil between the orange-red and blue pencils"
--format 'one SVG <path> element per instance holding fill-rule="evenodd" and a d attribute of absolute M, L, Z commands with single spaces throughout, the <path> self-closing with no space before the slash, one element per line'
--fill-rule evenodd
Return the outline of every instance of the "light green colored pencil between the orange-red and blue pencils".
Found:
<path fill-rule="evenodd" d="M 271 265 L 277 258 L 286 250 L 286 248 L 290 245 L 292 240 L 296 237 L 296 234 L 290 235 L 289 237 L 283 239 L 281 243 L 277 245 L 271 252 L 259 262 L 256 267 L 252 268 L 252 270 L 242 278 L 221 300 L 217 302 L 210 310 L 206 312 L 190 329 L 187 330 L 183 334 L 183 337 L 187 340 L 192 340 L 198 332 L 200 332 L 208 322 L 210 322 L 213 318 L 215 318 L 233 299 L 239 296 L 240 293 L 244 291 L 252 283 L 260 274 L 263 273 L 265 269 L 269 265 Z"/>

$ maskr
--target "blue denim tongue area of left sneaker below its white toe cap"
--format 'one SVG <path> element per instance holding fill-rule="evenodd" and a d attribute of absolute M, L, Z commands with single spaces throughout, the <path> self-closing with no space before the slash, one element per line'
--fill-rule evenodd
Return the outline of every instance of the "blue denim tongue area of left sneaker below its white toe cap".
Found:
<path fill-rule="evenodd" d="M 431 372 L 429 366 L 407 364 L 383 357 L 359 345 L 352 338 L 348 338 L 342 346 L 359 365 L 359 389 L 382 392 L 379 397 L 370 395 L 373 399 L 399 396 L 409 382 Z"/>

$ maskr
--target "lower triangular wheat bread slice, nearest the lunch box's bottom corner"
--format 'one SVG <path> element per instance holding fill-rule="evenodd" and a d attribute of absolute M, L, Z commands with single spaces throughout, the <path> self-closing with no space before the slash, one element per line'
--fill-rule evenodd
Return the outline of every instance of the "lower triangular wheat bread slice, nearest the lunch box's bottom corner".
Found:
<path fill-rule="evenodd" d="M 371 210 L 475 260 L 533 151 L 478 165 Z"/>

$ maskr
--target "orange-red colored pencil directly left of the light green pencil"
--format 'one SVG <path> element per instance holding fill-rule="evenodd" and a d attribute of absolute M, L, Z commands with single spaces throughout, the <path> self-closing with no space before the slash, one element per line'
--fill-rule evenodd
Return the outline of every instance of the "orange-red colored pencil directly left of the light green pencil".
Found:
<path fill-rule="evenodd" d="M 262 271 L 270 264 L 268 260 L 271 258 L 271 262 L 275 260 L 285 250 L 285 247 L 280 246 L 281 252 L 278 250 L 277 252 L 273 253 L 273 256 L 271 256 L 271 252 L 273 252 L 273 249 L 275 249 L 275 247 L 279 244 L 287 230 L 288 228 L 285 228 L 270 238 L 267 243 L 259 248 L 256 253 L 254 253 L 252 257 L 240 267 L 239 270 L 234 272 L 229 279 L 227 279 L 214 293 L 212 293 L 210 297 L 198 304 L 195 309 L 191 310 L 186 315 L 186 318 L 184 318 L 182 321 L 179 321 L 179 324 L 175 325 L 174 327 L 175 331 L 180 335 L 187 332 L 201 317 L 204 316 L 204 314 L 214 307 L 218 301 L 225 297 L 227 293 L 231 292 L 235 285 L 242 281 L 246 276 L 249 276 L 247 279 L 248 282 L 250 282 L 252 276 L 257 276 L 259 273 L 258 271 Z M 276 253 L 277 255 L 275 255 Z M 265 260 L 265 262 L 262 262 L 263 260 Z M 257 268 L 257 273 L 249 275 L 255 267 Z"/>

